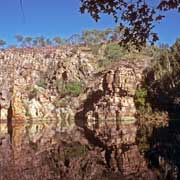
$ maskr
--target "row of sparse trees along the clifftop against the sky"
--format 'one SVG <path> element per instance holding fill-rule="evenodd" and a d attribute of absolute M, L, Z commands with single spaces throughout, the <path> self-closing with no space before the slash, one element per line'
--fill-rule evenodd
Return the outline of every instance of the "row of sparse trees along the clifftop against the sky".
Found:
<path fill-rule="evenodd" d="M 46 46 L 63 46 L 63 45 L 101 45 L 102 43 L 120 42 L 123 37 L 122 26 L 118 25 L 114 28 L 104 30 L 85 30 L 79 34 L 73 34 L 67 38 L 55 36 L 50 39 L 44 36 L 23 36 L 16 35 L 18 47 L 46 47 Z M 93 49 L 94 51 L 95 48 Z M 96 52 L 95 52 L 96 53 Z"/>

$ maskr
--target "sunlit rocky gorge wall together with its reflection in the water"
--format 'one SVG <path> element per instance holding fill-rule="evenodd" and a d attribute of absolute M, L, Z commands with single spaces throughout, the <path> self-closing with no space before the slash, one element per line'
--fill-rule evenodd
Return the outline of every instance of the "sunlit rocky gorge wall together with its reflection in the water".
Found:
<path fill-rule="evenodd" d="M 116 178 L 156 179 L 136 145 L 134 95 L 143 63 L 120 61 L 103 71 L 97 64 L 82 47 L 0 52 L 2 164 L 7 157 L 3 149 L 12 144 L 14 171 L 24 179 L 27 166 L 41 172 L 48 153 L 60 163 L 53 171 L 58 171 L 59 176 L 53 175 L 57 179 L 93 179 L 104 172 Z M 8 133 L 11 143 L 5 138 Z M 83 155 L 77 157 L 81 146 Z M 27 149 L 36 154 L 31 165 Z M 8 164 L 0 168 L 7 176 Z M 81 171 L 83 175 L 77 174 Z"/>

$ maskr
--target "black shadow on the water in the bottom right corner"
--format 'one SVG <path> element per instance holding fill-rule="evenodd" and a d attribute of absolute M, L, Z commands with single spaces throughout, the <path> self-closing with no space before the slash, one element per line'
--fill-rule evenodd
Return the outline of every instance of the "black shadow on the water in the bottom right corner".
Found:
<path fill-rule="evenodd" d="M 180 116 L 169 112 L 169 126 L 154 128 L 149 139 L 147 158 L 163 179 L 180 179 Z"/>

